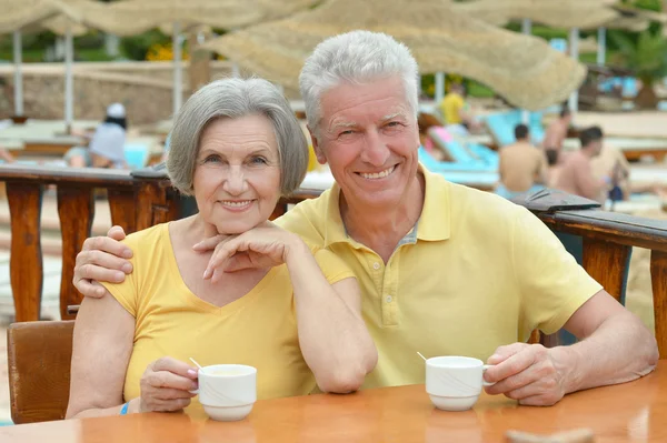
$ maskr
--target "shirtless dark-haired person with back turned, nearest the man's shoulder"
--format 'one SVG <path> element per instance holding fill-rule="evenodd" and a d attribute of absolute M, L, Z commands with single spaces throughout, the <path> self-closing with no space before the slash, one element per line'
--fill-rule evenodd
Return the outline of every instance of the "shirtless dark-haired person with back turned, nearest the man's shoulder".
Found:
<path fill-rule="evenodd" d="M 500 149 L 500 183 L 496 193 L 507 199 L 538 191 L 547 182 L 547 160 L 544 152 L 530 143 L 528 127 L 517 124 L 515 138 L 515 143 Z"/>

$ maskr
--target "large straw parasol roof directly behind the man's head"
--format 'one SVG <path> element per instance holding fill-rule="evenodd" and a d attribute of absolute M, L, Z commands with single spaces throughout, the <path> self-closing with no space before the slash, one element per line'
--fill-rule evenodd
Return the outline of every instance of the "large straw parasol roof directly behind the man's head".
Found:
<path fill-rule="evenodd" d="M 306 57 L 325 38 L 367 29 L 405 42 L 421 72 L 478 80 L 515 105 L 537 110 L 576 90 L 586 68 L 545 41 L 498 29 L 442 0 L 329 0 L 289 19 L 236 31 L 203 44 L 241 68 L 298 87 Z"/>

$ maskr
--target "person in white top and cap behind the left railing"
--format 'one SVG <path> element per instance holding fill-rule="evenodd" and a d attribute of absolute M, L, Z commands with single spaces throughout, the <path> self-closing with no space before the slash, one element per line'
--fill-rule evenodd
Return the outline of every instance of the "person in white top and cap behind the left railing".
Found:
<path fill-rule="evenodd" d="M 121 103 L 110 104 L 88 148 L 71 148 L 64 154 L 64 161 L 72 168 L 128 168 L 125 160 L 127 127 L 125 107 Z"/>

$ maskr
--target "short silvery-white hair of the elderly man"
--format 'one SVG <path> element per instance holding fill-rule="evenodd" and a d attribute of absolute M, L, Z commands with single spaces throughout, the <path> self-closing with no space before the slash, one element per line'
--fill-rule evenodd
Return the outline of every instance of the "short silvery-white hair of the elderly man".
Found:
<path fill-rule="evenodd" d="M 306 59 L 299 75 L 308 127 L 317 129 L 322 118 L 321 97 L 331 88 L 391 75 L 401 75 L 406 100 L 417 117 L 419 67 L 408 47 L 386 33 L 370 31 L 352 31 L 323 40 Z"/>

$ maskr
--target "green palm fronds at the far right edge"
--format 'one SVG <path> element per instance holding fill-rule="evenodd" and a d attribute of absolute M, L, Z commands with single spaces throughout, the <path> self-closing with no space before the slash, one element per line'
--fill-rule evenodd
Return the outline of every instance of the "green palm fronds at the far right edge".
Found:
<path fill-rule="evenodd" d="M 645 83 L 667 75 L 667 41 L 660 33 L 644 31 L 636 42 L 624 33 L 613 32 L 609 38 L 619 50 L 614 61 L 635 71 Z"/>

